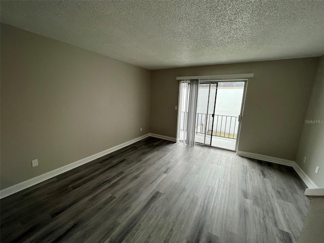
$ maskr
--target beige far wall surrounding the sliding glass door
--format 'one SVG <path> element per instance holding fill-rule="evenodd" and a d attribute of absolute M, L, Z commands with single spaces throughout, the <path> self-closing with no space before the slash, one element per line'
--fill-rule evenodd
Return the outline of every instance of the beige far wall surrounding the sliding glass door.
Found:
<path fill-rule="evenodd" d="M 153 70 L 150 132 L 176 137 L 177 76 L 252 72 L 238 149 L 295 160 L 317 62 L 301 58 Z"/>

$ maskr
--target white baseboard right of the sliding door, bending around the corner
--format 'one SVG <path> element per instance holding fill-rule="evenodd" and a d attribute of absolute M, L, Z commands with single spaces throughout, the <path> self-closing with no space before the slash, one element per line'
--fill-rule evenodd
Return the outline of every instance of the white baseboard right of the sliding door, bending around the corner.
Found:
<path fill-rule="evenodd" d="M 262 155 L 262 154 L 258 154 L 258 153 L 250 153 L 250 152 L 240 151 L 240 150 L 236 151 L 236 155 L 239 155 L 242 157 L 260 159 L 263 161 L 267 161 L 267 162 L 271 162 L 271 163 L 275 163 L 275 164 L 279 164 L 279 165 L 293 167 L 294 170 L 297 172 L 297 174 L 304 181 L 304 183 L 306 184 L 306 186 L 308 188 L 318 188 L 316 186 L 316 184 L 309 178 L 309 176 L 307 176 L 307 174 L 293 160 L 276 158 L 276 157 L 271 157 L 271 156 Z"/>

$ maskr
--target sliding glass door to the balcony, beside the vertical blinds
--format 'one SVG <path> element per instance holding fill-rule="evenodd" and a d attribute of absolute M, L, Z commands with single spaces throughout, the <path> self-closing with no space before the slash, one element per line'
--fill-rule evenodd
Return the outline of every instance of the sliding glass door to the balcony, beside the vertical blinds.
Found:
<path fill-rule="evenodd" d="M 199 84 L 195 142 L 235 150 L 245 82 Z"/>

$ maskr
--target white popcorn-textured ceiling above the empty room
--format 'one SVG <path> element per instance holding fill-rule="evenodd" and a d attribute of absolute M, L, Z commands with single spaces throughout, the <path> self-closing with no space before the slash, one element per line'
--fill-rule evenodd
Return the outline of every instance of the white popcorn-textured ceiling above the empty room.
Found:
<path fill-rule="evenodd" d="M 320 56 L 324 1 L 1 1 L 1 21 L 148 69 Z"/>

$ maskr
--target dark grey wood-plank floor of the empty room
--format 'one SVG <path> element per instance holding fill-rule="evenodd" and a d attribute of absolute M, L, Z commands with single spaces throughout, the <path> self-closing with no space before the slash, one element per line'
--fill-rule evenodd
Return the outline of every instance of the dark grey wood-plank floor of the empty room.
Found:
<path fill-rule="evenodd" d="M 296 242 L 295 171 L 147 138 L 1 200 L 1 242 Z"/>

